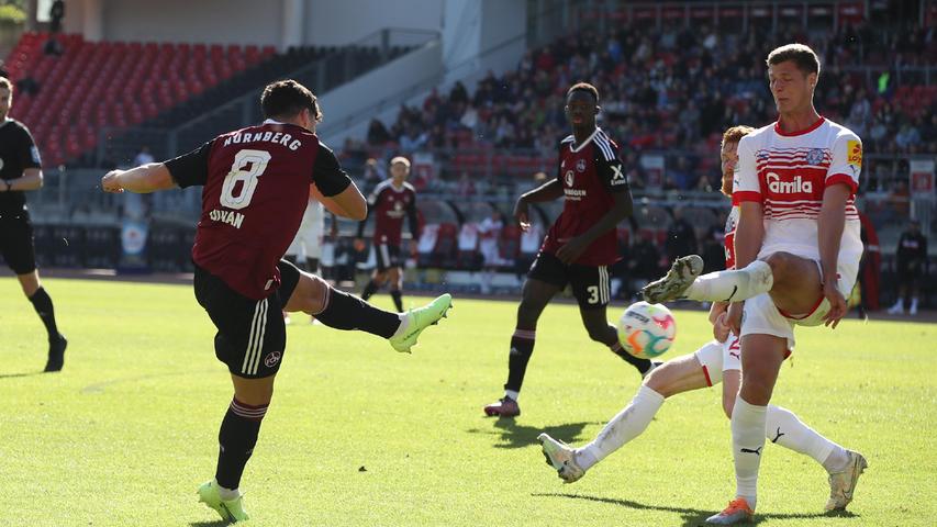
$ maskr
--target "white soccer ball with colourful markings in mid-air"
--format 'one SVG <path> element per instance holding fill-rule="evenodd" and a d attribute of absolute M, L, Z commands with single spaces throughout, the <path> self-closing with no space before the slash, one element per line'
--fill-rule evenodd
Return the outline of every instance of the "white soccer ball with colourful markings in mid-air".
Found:
<path fill-rule="evenodd" d="M 667 352 L 677 337 L 677 323 L 663 304 L 635 302 L 618 319 L 618 341 L 639 359 Z"/>

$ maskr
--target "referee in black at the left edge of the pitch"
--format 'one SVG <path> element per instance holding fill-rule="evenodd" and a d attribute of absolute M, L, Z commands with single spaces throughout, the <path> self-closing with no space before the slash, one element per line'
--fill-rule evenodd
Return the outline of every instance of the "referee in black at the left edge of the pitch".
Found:
<path fill-rule="evenodd" d="M 0 77 L 0 254 L 16 273 L 23 293 L 33 303 L 48 332 L 45 371 L 59 371 L 68 341 L 58 333 L 52 299 L 40 284 L 33 248 L 33 225 L 23 191 L 43 184 L 40 150 L 30 131 L 7 116 L 13 103 L 13 86 Z"/>

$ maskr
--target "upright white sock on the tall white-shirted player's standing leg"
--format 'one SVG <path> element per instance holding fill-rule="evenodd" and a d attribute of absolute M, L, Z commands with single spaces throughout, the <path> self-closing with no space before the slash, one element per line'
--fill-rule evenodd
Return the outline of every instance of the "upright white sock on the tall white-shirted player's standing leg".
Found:
<path fill-rule="evenodd" d="M 741 395 L 732 411 L 732 457 L 735 460 L 736 497 L 744 497 L 752 509 L 758 496 L 758 469 L 765 449 L 765 423 L 768 406 L 748 404 Z"/>

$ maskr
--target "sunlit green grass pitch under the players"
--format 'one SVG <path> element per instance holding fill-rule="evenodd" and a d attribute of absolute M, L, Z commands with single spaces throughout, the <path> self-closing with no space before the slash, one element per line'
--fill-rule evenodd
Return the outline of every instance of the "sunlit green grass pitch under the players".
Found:
<path fill-rule="evenodd" d="M 191 288 L 45 285 L 70 340 L 58 374 L 35 373 L 44 330 L 15 280 L 0 281 L 0 525 L 221 525 L 196 489 L 214 473 L 232 390 Z M 390 305 L 386 294 L 376 300 Z M 523 415 L 483 417 L 501 394 L 514 310 L 457 298 L 412 356 L 294 316 L 242 482 L 253 525 L 693 526 L 728 502 L 729 427 L 717 389 L 670 400 L 644 436 L 576 484 L 544 463 L 539 431 L 591 439 L 639 383 L 588 339 L 572 305 L 544 314 Z M 677 323 L 665 358 L 709 338 L 703 313 L 678 312 Z M 768 446 L 760 522 L 934 525 L 937 325 L 848 319 L 799 338 L 774 402 L 862 451 L 870 467 L 849 513 L 828 517 L 824 471 Z"/>

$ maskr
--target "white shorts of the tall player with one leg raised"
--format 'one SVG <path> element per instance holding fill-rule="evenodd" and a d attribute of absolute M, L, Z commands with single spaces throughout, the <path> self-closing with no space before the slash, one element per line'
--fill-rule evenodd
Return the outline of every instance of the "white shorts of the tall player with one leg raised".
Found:
<path fill-rule="evenodd" d="M 819 268 L 819 262 L 816 262 Z M 856 284 L 856 274 L 859 272 L 859 264 L 844 265 L 840 264 L 838 269 L 839 274 L 839 292 L 843 296 L 849 298 L 852 292 L 852 285 Z M 821 279 L 823 279 L 823 269 L 821 269 Z M 823 317 L 829 313 L 829 301 L 825 296 L 814 306 L 813 311 L 805 314 L 782 313 L 771 295 L 768 293 L 759 294 L 745 301 L 745 311 L 741 316 L 741 336 L 746 335 L 773 335 L 776 337 L 788 339 L 788 349 L 794 349 L 794 326 L 818 326 L 823 324 Z"/>

